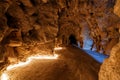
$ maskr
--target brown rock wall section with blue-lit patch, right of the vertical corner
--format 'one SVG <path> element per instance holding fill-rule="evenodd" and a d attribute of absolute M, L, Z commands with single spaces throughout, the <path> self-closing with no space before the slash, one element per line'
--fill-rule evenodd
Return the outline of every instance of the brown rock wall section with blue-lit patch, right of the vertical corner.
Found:
<path fill-rule="evenodd" d="M 110 54 L 119 39 L 120 18 L 113 13 L 115 0 L 66 0 L 61 4 L 59 43 L 69 44 L 70 35 L 74 35 L 82 48 Z"/>

